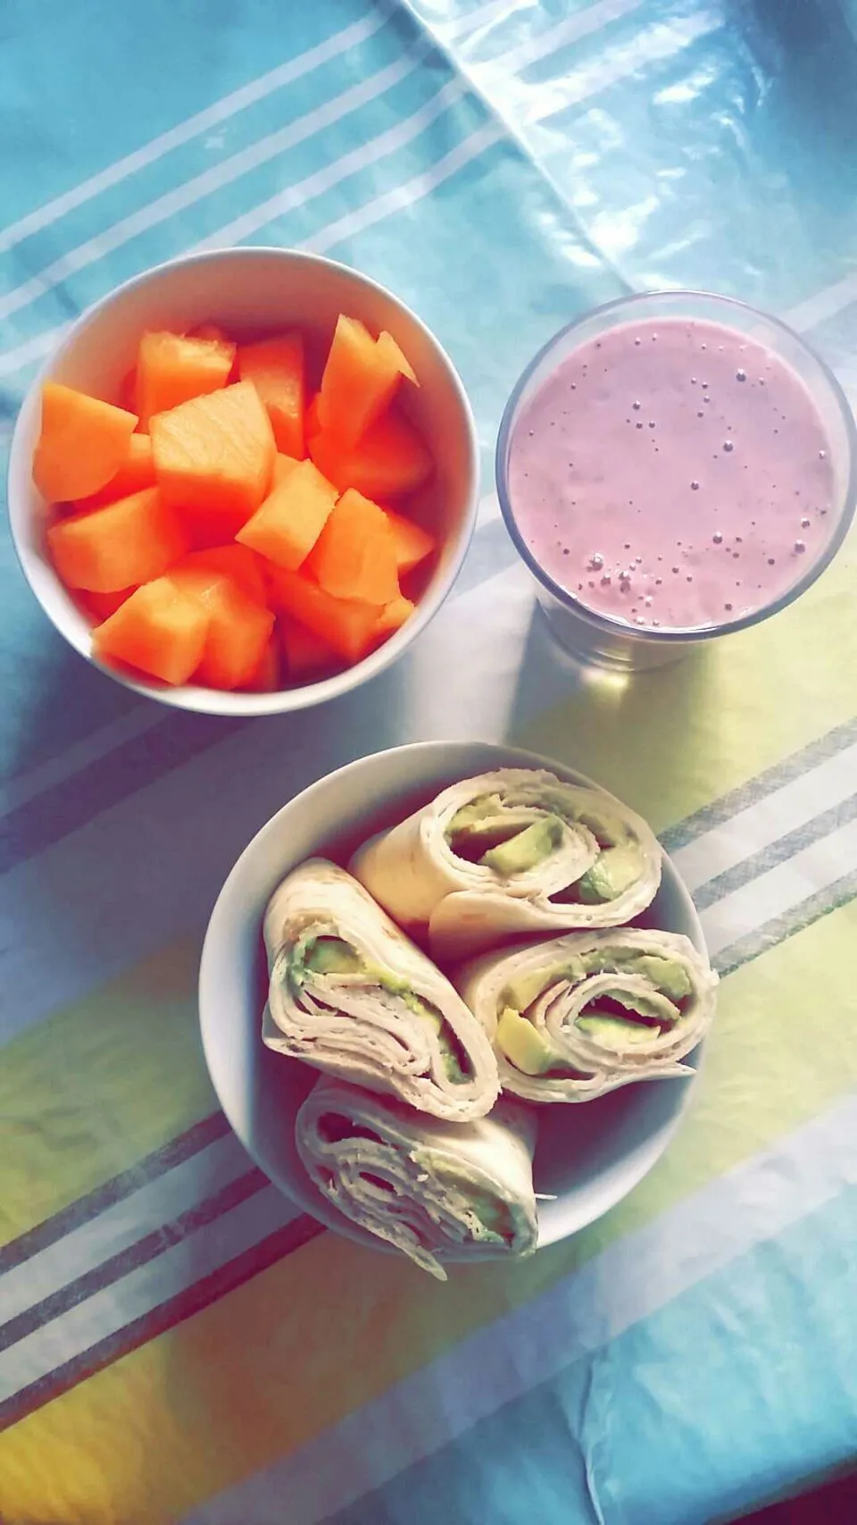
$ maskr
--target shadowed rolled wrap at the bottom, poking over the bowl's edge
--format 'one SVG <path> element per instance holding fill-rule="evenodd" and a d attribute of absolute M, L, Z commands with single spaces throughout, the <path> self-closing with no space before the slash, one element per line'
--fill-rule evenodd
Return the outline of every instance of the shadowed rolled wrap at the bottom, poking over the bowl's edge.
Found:
<path fill-rule="evenodd" d="M 294 1124 L 297 1153 L 328 1202 L 441 1281 L 450 1255 L 535 1249 L 534 1139 L 535 1124 L 514 1104 L 450 1127 L 328 1078 Z"/>

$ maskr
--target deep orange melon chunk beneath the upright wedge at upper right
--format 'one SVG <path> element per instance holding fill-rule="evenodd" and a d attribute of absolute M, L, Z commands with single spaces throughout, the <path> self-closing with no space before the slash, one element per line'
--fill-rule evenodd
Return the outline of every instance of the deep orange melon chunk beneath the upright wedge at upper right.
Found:
<path fill-rule="evenodd" d="M 345 493 L 355 488 L 384 500 L 413 493 L 428 480 L 433 461 L 425 441 L 395 407 L 390 407 L 351 448 L 320 429 L 310 436 L 310 454 L 319 471 Z"/>

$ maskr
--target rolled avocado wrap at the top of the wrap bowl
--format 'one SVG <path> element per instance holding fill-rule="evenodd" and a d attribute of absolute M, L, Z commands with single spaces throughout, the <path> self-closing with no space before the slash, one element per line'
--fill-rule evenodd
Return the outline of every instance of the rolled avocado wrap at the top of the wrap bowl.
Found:
<path fill-rule="evenodd" d="M 499 769 L 442 790 L 371 837 L 351 872 L 436 958 L 468 958 L 509 936 L 613 927 L 654 900 L 660 846 L 604 790 L 554 773 Z"/>

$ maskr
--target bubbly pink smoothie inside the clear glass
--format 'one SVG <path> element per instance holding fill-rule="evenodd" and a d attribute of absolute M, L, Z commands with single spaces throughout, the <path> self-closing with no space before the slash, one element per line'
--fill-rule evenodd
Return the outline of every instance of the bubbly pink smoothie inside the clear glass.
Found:
<path fill-rule="evenodd" d="M 509 502 L 538 564 L 589 608 L 720 625 L 785 593 L 825 547 L 830 442 L 773 351 L 647 319 L 583 345 L 531 398 Z"/>

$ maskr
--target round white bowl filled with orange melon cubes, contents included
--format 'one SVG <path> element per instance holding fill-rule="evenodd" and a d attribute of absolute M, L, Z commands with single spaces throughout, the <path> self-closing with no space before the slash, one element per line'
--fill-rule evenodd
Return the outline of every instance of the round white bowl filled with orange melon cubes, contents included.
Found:
<path fill-rule="evenodd" d="M 18 415 L 9 515 L 81 656 L 168 705 L 261 715 L 401 656 L 456 578 L 477 479 L 461 380 L 403 302 L 233 249 L 75 323 Z"/>

